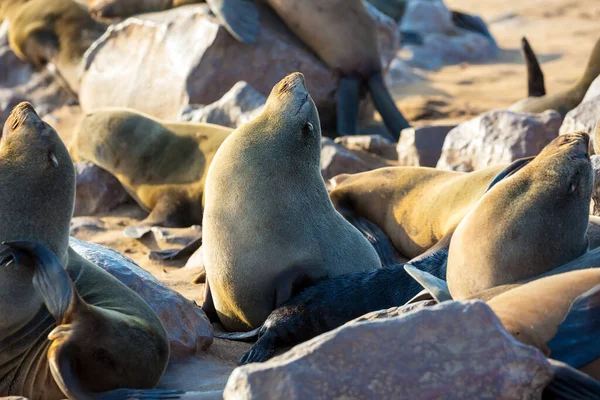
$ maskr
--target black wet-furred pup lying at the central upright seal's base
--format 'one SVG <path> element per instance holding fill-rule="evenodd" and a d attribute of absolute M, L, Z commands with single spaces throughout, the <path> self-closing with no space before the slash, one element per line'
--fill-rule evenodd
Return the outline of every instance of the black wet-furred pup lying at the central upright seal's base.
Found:
<path fill-rule="evenodd" d="M 446 250 L 437 252 L 415 267 L 444 279 L 447 256 Z M 320 281 L 269 315 L 240 364 L 266 361 L 277 347 L 305 342 L 372 311 L 402 306 L 422 289 L 404 264 Z"/>

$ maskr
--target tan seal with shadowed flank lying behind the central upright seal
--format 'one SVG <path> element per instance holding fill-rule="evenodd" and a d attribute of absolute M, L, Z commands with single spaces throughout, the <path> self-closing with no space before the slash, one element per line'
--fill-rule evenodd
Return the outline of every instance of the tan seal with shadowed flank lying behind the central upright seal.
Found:
<path fill-rule="evenodd" d="M 85 116 L 70 145 L 76 160 L 88 160 L 113 174 L 150 212 L 129 237 L 154 225 L 202 223 L 204 184 L 217 149 L 233 129 L 213 124 L 159 121 L 126 108 L 105 108 Z"/>

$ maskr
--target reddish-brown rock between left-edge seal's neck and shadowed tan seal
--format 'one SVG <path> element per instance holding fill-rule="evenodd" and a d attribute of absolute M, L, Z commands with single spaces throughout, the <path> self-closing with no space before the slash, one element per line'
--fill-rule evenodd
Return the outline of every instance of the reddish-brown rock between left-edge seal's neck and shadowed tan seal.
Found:
<path fill-rule="evenodd" d="M 75 171 L 74 216 L 108 212 L 132 200 L 117 178 L 91 162 L 75 163 Z"/>

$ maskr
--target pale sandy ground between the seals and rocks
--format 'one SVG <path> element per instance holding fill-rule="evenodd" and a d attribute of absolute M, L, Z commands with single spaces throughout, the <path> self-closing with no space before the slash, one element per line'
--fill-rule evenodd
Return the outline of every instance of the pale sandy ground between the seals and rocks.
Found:
<path fill-rule="evenodd" d="M 427 80 L 392 88 L 399 107 L 415 125 L 458 123 L 481 112 L 506 108 L 526 95 L 526 70 L 520 53 L 522 36 L 527 36 L 538 54 L 545 73 L 546 88 L 554 92 L 576 82 L 588 60 L 590 50 L 600 37 L 600 2 L 597 0 L 446 0 L 454 9 L 480 14 L 502 51 L 499 58 L 484 64 L 449 66 L 427 74 Z M 68 141 L 74 123 L 72 110 L 55 114 L 50 120 Z M 143 241 L 125 238 L 123 228 L 144 213 L 135 205 L 122 207 L 100 217 L 80 217 L 73 221 L 72 234 L 80 239 L 112 247 L 131 257 L 159 280 L 201 304 L 203 285 L 191 283 L 198 269 L 182 268 L 186 260 L 169 262 L 149 258 L 151 250 L 177 247 L 149 237 Z M 237 347 L 236 347 L 237 346 Z M 213 389 L 223 384 L 234 360 L 247 345 L 228 345 L 216 341 L 215 354 L 203 356 L 200 370 L 211 360 L 216 366 L 212 383 L 198 389 Z M 208 357 L 208 358 L 207 358 Z M 204 361 L 202 361 L 204 360 Z M 216 364 L 213 364 L 216 365 Z M 166 378 L 177 386 L 179 374 L 174 367 Z M 205 370 L 206 371 L 206 370 Z M 225 374 L 221 374 L 223 371 Z M 189 382 L 188 382 L 189 383 Z M 186 385 L 187 386 L 187 385 Z M 202 386 L 202 385 L 200 385 Z"/>

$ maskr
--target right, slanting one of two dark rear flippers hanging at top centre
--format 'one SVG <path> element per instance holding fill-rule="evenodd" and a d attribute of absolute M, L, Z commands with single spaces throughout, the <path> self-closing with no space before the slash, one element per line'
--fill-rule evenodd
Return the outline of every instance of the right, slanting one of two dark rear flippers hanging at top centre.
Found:
<path fill-rule="evenodd" d="M 410 127 L 410 124 L 406 118 L 404 118 L 400 110 L 398 110 L 398 107 L 396 107 L 394 99 L 392 99 L 392 96 L 383 81 L 381 72 L 369 77 L 367 84 L 375 108 L 379 111 L 379 114 L 381 114 L 381 118 L 392 138 L 395 141 L 398 141 L 402 129 Z"/>

